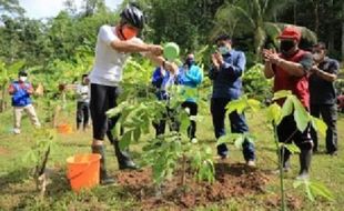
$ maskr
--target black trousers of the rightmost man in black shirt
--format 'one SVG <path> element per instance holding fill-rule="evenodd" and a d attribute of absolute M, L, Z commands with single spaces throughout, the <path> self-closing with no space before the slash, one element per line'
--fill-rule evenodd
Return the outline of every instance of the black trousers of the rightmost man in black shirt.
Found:
<path fill-rule="evenodd" d="M 327 125 L 326 130 L 326 150 L 327 152 L 334 152 L 337 150 L 337 108 L 336 104 L 311 104 L 311 114 L 313 117 L 324 120 Z M 311 130 L 312 139 L 314 142 L 314 150 L 317 150 L 317 134 L 312 128 Z"/>

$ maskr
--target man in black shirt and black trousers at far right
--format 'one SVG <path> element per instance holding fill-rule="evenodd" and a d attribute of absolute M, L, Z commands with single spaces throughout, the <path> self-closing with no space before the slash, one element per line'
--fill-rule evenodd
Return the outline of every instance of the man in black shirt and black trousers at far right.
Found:
<path fill-rule="evenodd" d="M 311 114 L 322 119 L 327 125 L 326 151 L 327 154 L 337 154 L 337 105 L 334 81 L 340 71 L 338 61 L 326 57 L 326 44 L 318 42 L 313 47 L 314 66 L 310 77 Z M 311 129 L 314 142 L 313 152 L 317 151 L 317 134 Z"/>

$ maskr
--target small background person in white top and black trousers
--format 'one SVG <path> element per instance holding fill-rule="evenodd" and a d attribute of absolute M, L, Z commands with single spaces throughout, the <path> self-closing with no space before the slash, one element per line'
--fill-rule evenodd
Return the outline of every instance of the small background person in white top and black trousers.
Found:
<path fill-rule="evenodd" d="M 81 83 L 77 84 L 77 130 L 82 123 L 85 131 L 90 119 L 90 89 L 88 74 L 82 74 Z"/>

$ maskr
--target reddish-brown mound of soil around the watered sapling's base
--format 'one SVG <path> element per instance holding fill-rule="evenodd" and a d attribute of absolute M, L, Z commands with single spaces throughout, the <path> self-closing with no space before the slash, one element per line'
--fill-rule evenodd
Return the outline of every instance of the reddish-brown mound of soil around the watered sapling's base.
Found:
<path fill-rule="evenodd" d="M 194 177 L 188 173 L 185 187 L 181 184 L 181 174 L 178 174 L 161 188 L 156 188 L 151 175 L 151 169 L 121 171 L 117 174 L 119 183 L 141 202 L 143 210 L 162 207 L 183 210 L 231 197 L 261 193 L 270 180 L 255 168 L 227 162 L 215 164 L 215 182 L 212 184 L 196 182 Z"/>

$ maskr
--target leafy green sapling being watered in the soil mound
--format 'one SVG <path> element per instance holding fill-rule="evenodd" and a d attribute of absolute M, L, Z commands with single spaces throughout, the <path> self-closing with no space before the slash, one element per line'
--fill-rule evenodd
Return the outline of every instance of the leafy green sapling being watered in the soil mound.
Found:
<path fill-rule="evenodd" d="M 152 167 L 156 187 L 171 179 L 178 170 L 181 170 L 181 184 L 185 187 L 188 169 L 195 173 L 198 180 L 214 181 L 210 148 L 195 147 L 188 138 L 190 118 L 181 107 L 183 99 L 179 93 L 180 88 L 172 86 L 168 90 L 171 99 L 158 101 L 151 93 L 149 69 L 153 68 L 146 63 L 141 66 L 133 60 L 128 61 L 124 80 L 127 90 L 122 94 L 122 102 L 107 112 L 108 117 L 120 117 L 113 129 L 114 135 L 120 139 L 120 148 L 128 148 L 133 141 L 138 141 L 142 133 L 149 133 L 152 122 L 165 118 L 168 124 L 174 124 L 173 130 L 148 141 L 143 147 L 143 164 Z M 164 117 L 166 108 L 173 110 L 173 114 Z"/>

